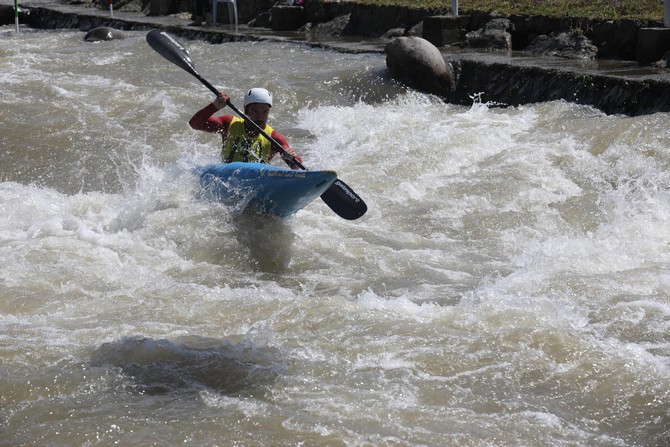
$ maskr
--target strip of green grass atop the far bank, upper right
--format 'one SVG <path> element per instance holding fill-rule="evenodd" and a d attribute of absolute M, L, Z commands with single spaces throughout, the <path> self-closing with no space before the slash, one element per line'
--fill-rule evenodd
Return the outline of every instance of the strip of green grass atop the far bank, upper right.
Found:
<path fill-rule="evenodd" d="M 451 0 L 355 0 L 371 5 L 400 5 L 416 8 L 451 9 Z M 460 13 L 496 11 L 500 14 L 529 14 L 591 19 L 642 19 L 663 21 L 663 0 L 459 0 Z"/>

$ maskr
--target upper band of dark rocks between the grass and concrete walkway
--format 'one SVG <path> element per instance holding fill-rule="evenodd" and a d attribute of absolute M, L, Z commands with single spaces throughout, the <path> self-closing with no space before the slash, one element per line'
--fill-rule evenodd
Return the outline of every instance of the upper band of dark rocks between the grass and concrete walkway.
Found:
<path fill-rule="evenodd" d="M 108 0 L 55 0 L 62 4 L 107 10 Z M 209 8 L 209 2 L 205 2 Z M 640 45 L 641 30 L 661 29 L 660 22 L 642 20 L 595 20 L 582 17 L 546 17 L 512 15 L 501 17 L 488 11 L 461 10 L 452 20 L 449 8 L 408 8 L 403 6 L 375 6 L 355 0 L 311 0 L 304 7 L 289 7 L 286 0 L 245 0 L 238 2 L 239 22 L 251 26 L 265 26 L 275 31 L 303 29 L 309 32 L 351 37 L 380 38 L 391 35 L 420 35 L 437 46 L 466 43 L 466 35 L 486 27 L 492 19 L 507 20 L 510 50 L 528 49 L 539 36 L 571 32 L 596 49 L 599 59 L 644 60 L 655 62 L 670 50 L 670 42 L 659 44 L 646 41 Z M 292 2 L 291 2 L 292 3 Z M 141 12 L 149 16 L 168 16 L 186 13 L 205 19 L 207 10 L 196 12 L 195 0 L 115 0 L 118 11 Z M 219 5 L 219 22 L 228 20 L 225 4 Z M 211 13 L 211 11 L 209 11 Z M 424 29 L 427 18 L 446 17 L 447 21 L 431 20 L 438 29 Z M 210 15 L 211 17 L 211 15 Z M 445 29 L 445 27 L 447 27 Z M 667 37 L 667 38 L 666 38 Z M 663 40 L 669 40 L 666 35 Z M 658 47 L 654 54 L 640 55 L 650 46 Z M 649 60 L 649 59 L 654 60 Z"/>

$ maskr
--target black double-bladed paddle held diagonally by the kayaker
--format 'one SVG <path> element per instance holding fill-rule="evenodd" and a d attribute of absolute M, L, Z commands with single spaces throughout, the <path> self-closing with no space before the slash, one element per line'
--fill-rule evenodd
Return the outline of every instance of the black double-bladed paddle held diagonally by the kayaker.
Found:
<path fill-rule="evenodd" d="M 219 91 L 216 89 L 216 87 L 207 82 L 206 79 L 200 76 L 198 71 L 195 69 L 193 61 L 191 61 L 191 57 L 189 56 L 188 51 L 181 43 L 179 43 L 179 41 L 177 41 L 177 39 L 165 31 L 154 29 L 147 33 L 147 43 L 158 54 L 178 67 L 181 67 L 182 69 L 189 72 L 212 93 L 218 96 Z M 307 168 L 295 157 L 289 154 L 286 149 L 284 149 L 284 147 L 277 142 L 277 140 L 270 137 L 265 131 L 263 131 L 263 129 L 260 128 L 258 124 L 256 124 L 247 115 L 241 112 L 230 101 L 227 105 L 246 122 L 254 126 L 261 135 L 267 138 L 282 154 L 284 159 L 289 160 L 291 163 L 300 167 L 300 169 L 307 170 Z M 348 220 L 358 219 L 368 210 L 368 207 L 363 199 L 361 199 L 358 194 L 356 194 L 346 183 L 340 179 L 335 180 L 335 182 L 323 194 L 321 194 L 321 200 L 323 200 L 326 205 L 328 205 L 330 209 L 333 210 L 338 216 Z"/>

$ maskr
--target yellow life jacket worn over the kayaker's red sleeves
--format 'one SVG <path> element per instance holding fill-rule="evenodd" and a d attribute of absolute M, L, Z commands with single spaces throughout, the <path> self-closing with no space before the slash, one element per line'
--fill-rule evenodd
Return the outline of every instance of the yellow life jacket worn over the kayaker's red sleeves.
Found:
<path fill-rule="evenodd" d="M 263 131 L 271 135 L 272 127 L 265 125 Z M 221 149 L 221 158 L 226 163 L 233 161 L 259 161 L 268 163 L 270 161 L 270 149 L 272 143 L 263 135 L 249 136 L 244 127 L 244 119 L 235 117 L 228 127 L 228 135 Z"/>

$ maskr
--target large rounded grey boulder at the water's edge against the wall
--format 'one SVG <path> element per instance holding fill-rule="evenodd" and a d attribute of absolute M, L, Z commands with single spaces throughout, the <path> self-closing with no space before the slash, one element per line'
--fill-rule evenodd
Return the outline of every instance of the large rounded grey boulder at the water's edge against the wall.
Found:
<path fill-rule="evenodd" d="M 440 96 L 454 87 L 454 76 L 442 53 L 421 37 L 398 37 L 386 44 L 391 75 L 410 87 Z"/>

